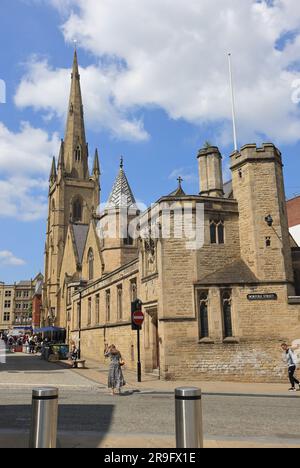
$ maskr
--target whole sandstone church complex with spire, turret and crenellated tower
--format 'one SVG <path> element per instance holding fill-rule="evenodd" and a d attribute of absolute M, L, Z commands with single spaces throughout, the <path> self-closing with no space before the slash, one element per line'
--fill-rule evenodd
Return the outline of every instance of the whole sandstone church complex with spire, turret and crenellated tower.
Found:
<path fill-rule="evenodd" d="M 115 343 L 135 369 L 131 302 L 139 298 L 144 372 L 286 380 L 280 343 L 300 338 L 300 249 L 288 231 L 280 151 L 244 146 L 232 154 L 232 181 L 224 184 L 222 156 L 206 146 L 198 154 L 200 193 L 187 195 L 179 180 L 155 204 L 155 222 L 150 208 L 143 213 L 139 236 L 122 221 L 124 212 L 128 224 L 138 214 L 123 161 L 99 213 L 97 150 L 91 172 L 88 156 L 75 53 L 65 139 L 50 175 L 42 325 L 65 328 L 69 341 L 80 337 L 87 359 L 103 361 L 104 343 Z M 187 207 L 198 246 L 178 227 L 176 210 Z"/>

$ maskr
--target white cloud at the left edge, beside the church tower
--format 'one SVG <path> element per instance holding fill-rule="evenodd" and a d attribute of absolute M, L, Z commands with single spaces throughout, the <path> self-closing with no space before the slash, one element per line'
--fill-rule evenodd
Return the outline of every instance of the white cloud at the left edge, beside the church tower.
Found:
<path fill-rule="evenodd" d="M 56 134 L 49 138 L 26 122 L 11 132 L 0 122 L 0 217 L 46 218 L 51 157 L 58 148 Z"/>

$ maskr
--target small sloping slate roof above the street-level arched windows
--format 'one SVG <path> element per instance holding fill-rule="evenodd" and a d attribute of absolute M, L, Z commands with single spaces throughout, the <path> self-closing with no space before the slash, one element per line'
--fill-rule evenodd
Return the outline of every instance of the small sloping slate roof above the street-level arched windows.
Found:
<path fill-rule="evenodd" d="M 198 283 L 203 285 L 256 284 L 258 279 L 243 260 L 236 260 L 225 268 L 205 276 Z"/>

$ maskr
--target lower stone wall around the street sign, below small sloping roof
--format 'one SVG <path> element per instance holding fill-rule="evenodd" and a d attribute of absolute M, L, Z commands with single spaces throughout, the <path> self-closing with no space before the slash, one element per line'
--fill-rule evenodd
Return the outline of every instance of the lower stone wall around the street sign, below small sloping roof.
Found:
<path fill-rule="evenodd" d="M 277 301 L 249 301 L 248 294 L 277 294 Z M 283 382 L 280 345 L 300 339 L 300 306 L 287 305 L 286 286 L 233 288 L 234 336 L 224 339 L 220 290 L 209 290 L 209 339 L 199 340 L 198 319 L 160 323 L 163 378 Z"/>

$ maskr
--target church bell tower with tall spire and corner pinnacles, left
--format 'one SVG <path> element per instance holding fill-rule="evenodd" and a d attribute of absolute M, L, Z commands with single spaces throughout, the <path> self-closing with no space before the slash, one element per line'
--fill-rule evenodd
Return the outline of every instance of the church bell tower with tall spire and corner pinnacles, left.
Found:
<path fill-rule="evenodd" d="M 43 321 L 54 323 L 59 312 L 59 275 L 68 227 L 89 225 L 100 203 L 100 165 L 96 150 L 92 175 L 86 142 L 77 52 L 74 54 L 65 139 L 58 165 L 53 158 L 49 179 L 49 212 L 45 246 Z"/>

